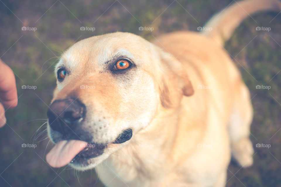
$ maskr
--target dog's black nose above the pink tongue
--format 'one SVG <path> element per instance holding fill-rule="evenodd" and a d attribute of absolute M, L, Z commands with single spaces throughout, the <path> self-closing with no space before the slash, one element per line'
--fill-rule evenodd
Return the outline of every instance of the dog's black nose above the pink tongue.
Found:
<path fill-rule="evenodd" d="M 86 107 L 77 98 L 55 100 L 47 112 L 50 127 L 64 135 L 73 134 L 73 130 L 83 121 L 85 114 Z"/>

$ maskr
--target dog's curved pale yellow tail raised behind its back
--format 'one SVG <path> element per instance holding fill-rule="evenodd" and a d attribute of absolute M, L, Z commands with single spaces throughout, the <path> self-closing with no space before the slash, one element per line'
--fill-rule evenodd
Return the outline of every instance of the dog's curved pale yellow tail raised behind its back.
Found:
<path fill-rule="evenodd" d="M 258 11 L 281 11 L 279 0 L 244 0 L 238 1 L 215 14 L 206 24 L 201 33 L 213 38 L 223 45 L 244 18 Z"/>

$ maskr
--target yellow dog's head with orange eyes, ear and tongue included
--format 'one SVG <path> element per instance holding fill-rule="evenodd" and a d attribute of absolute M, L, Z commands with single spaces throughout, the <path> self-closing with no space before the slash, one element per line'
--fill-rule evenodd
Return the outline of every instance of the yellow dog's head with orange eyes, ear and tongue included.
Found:
<path fill-rule="evenodd" d="M 77 42 L 55 68 L 48 110 L 53 167 L 90 169 L 127 145 L 162 108 L 192 95 L 184 67 L 145 39 L 116 32 Z"/>

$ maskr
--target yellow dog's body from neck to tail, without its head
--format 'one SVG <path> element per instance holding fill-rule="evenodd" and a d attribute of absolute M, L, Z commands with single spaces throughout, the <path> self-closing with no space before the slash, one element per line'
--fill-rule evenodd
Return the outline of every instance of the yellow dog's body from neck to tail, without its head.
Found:
<path fill-rule="evenodd" d="M 119 174 L 122 180 L 114 179 L 115 186 L 225 186 L 231 155 L 242 167 L 252 165 L 250 93 L 223 44 L 244 18 L 265 10 L 280 11 L 280 1 L 235 1 L 205 25 L 211 31 L 173 32 L 153 41 L 181 63 L 194 94 L 182 99 L 179 110 L 160 116 L 136 135 L 137 141 L 165 145 L 153 147 L 159 155 L 148 156 L 136 144 L 128 145 L 109 157 L 107 164 L 102 162 L 97 167 L 102 181 L 112 173 L 112 169 L 105 172 L 103 167 L 115 160 L 135 164 L 126 171 L 121 164 L 114 167 L 114 172 L 123 173 Z M 173 65 L 171 61 L 167 66 Z M 157 137 L 150 139 L 148 134 Z M 134 153 L 142 156 L 136 158 Z M 127 173 L 134 177 L 124 182 Z M 148 174 L 150 177 L 145 177 Z"/>

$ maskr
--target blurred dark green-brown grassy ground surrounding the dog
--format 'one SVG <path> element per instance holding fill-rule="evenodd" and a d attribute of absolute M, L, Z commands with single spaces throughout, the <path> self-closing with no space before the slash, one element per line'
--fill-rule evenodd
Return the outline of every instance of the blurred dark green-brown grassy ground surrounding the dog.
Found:
<path fill-rule="evenodd" d="M 15 72 L 19 96 L 18 106 L 6 112 L 8 125 L 0 129 L 0 186 L 104 186 L 94 170 L 53 169 L 45 162 L 53 146 L 45 131 L 56 84 L 53 69 L 73 43 L 116 31 L 148 40 L 167 32 L 197 31 L 231 3 L 236 1 L 0 0 L 0 58 Z M 251 91 L 255 149 L 252 167 L 241 169 L 231 162 L 226 186 L 281 186 L 280 31 L 281 14 L 258 13 L 244 20 L 225 44 Z"/>

